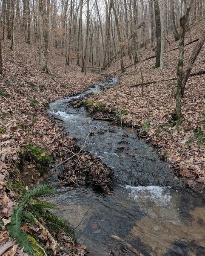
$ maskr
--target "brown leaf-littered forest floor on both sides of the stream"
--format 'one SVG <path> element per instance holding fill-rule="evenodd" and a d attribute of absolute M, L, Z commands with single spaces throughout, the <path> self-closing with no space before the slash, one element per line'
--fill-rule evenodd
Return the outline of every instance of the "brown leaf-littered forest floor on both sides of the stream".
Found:
<path fill-rule="evenodd" d="M 198 38 L 200 29 L 199 26 L 198 30 L 187 34 L 187 42 Z M 168 39 L 171 44 L 167 43 L 165 50 L 178 46 L 172 37 Z M 185 61 L 194 45 L 185 47 Z M 4 225 L 8 223 L 12 207 L 17 204 L 14 194 L 7 189 L 8 180 L 31 185 L 37 184 L 41 176 L 34 163 L 25 161 L 19 167 L 22 149 L 32 144 L 45 150 L 42 157 L 48 153 L 60 161 L 67 159 L 70 151 L 79 150 L 75 147 L 75 140 L 66 137 L 65 131 L 56 126 L 54 119 L 47 113 L 48 103 L 79 93 L 101 79 L 96 74 L 80 73 L 80 68 L 74 64 L 67 67 L 65 74 L 65 58 L 56 54 L 60 54 L 57 49 L 52 49 L 48 54 L 50 73 L 41 72 L 37 48 L 23 43 L 21 37 L 16 38 L 14 64 L 14 52 L 9 47 L 9 40 L 2 41 L 4 74 L 0 76 L 0 219 L 3 219 Z M 141 59 L 154 55 L 151 49 L 140 50 L 140 53 Z M 196 60 L 193 72 L 205 69 L 204 56 L 205 47 Z M 177 59 L 178 50 L 175 50 L 165 53 L 165 69 L 162 71 L 152 68 L 155 64 L 155 58 L 152 58 L 128 68 L 122 75 L 115 72 L 120 69 L 117 61 L 108 68 L 106 74 L 119 76 L 120 84 L 100 95 L 91 96 L 91 100 L 101 102 L 108 110 L 114 106 L 120 114 L 126 109 L 128 112 L 122 115 L 123 124 L 138 128 L 146 141 L 157 146 L 158 154 L 179 175 L 187 178 L 189 186 L 198 187 L 196 183 L 205 182 L 205 75 L 193 76 L 188 80 L 185 98 L 182 99 L 183 117 L 180 122 L 172 120 L 176 81 L 144 86 L 143 97 L 141 86 L 131 87 L 141 82 L 139 67 L 142 69 L 144 83 L 176 76 Z M 128 66 L 131 61 L 125 60 L 125 63 Z M 60 82 L 56 83 L 53 79 Z M 83 154 L 82 157 L 84 162 L 89 158 Z M 95 163 L 97 166 L 99 160 Z M 106 166 L 101 168 L 103 172 Z M 39 229 L 38 232 L 49 245 L 49 238 L 43 230 Z M 0 244 L 5 244 L 8 238 L 5 229 L 0 231 Z M 69 245 L 72 247 L 71 243 Z M 16 249 L 16 255 L 23 255 L 20 249 L 13 246 L 11 250 L 13 248 Z M 73 247 L 73 251 L 83 256 L 87 248 L 79 245 Z"/>

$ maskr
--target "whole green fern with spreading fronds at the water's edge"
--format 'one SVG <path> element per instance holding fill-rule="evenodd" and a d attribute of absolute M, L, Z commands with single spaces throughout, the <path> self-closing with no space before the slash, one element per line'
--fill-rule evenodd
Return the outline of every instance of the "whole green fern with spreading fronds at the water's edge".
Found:
<path fill-rule="evenodd" d="M 62 231 L 75 245 L 77 244 L 74 230 L 69 223 L 57 217 L 53 212 L 48 211 L 48 209 L 57 209 L 57 207 L 52 203 L 41 201 L 37 198 L 37 196 L 41 195 L 58 193 L 57 189 L 52 188 L 52 185 L 40 184 L 30 191 L 23 189 L 20 204 L 13 208 L 11 223 L 8 227 L 9 233 L 20 247 L 24 247 L 24 250 L 30 255 L 34 250 L 27 235 L 21 230 L 21 226 L 23 221 L 34 225 L 35 218 L 40 219 L 48 227 L 48 230 L 55 231 L 56 234 Z"/>

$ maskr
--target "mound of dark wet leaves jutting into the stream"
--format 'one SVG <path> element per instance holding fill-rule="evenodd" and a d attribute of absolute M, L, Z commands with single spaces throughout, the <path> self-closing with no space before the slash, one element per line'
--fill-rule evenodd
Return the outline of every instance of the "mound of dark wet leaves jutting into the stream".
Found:
<path fill-rule="evenodd" d="M 83 152 L 76 155 L 66 165 L 58 177 L 63 185 L 98 186 L 106 194 L 113 187 L 113 171 L 93 154 Z"/>

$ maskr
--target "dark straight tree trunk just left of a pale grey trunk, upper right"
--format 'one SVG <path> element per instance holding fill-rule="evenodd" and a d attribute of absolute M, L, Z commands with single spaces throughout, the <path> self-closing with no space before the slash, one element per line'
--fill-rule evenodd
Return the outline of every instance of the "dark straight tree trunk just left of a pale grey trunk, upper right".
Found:
<path fill-rule="evenodd" d="M 159 67 L 160 66 L 160 53 L 161 53 L 161 24 L 160 24 L 160 12 L 159 12 L 158 0 L 154 0 L 154 14 L 155 14 L 155 22 L 156 22 L 156 39 L 157 39 L 155 67 Z"/>

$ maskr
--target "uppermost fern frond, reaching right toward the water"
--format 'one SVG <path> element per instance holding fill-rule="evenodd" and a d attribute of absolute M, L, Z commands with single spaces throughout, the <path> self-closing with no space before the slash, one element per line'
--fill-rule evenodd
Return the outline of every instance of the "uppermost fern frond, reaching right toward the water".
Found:
<path fill-rule="evenodd" d="M 20 205 L 24 205 L 28 202 L 29 198 L 34 196 L 46 195 L 46 194 L 57 194 L 57 189 L 51 188 L 52 184 L 40 184 L 35 186 L 30 191 L 24 191 L 21 197 Z"/>

